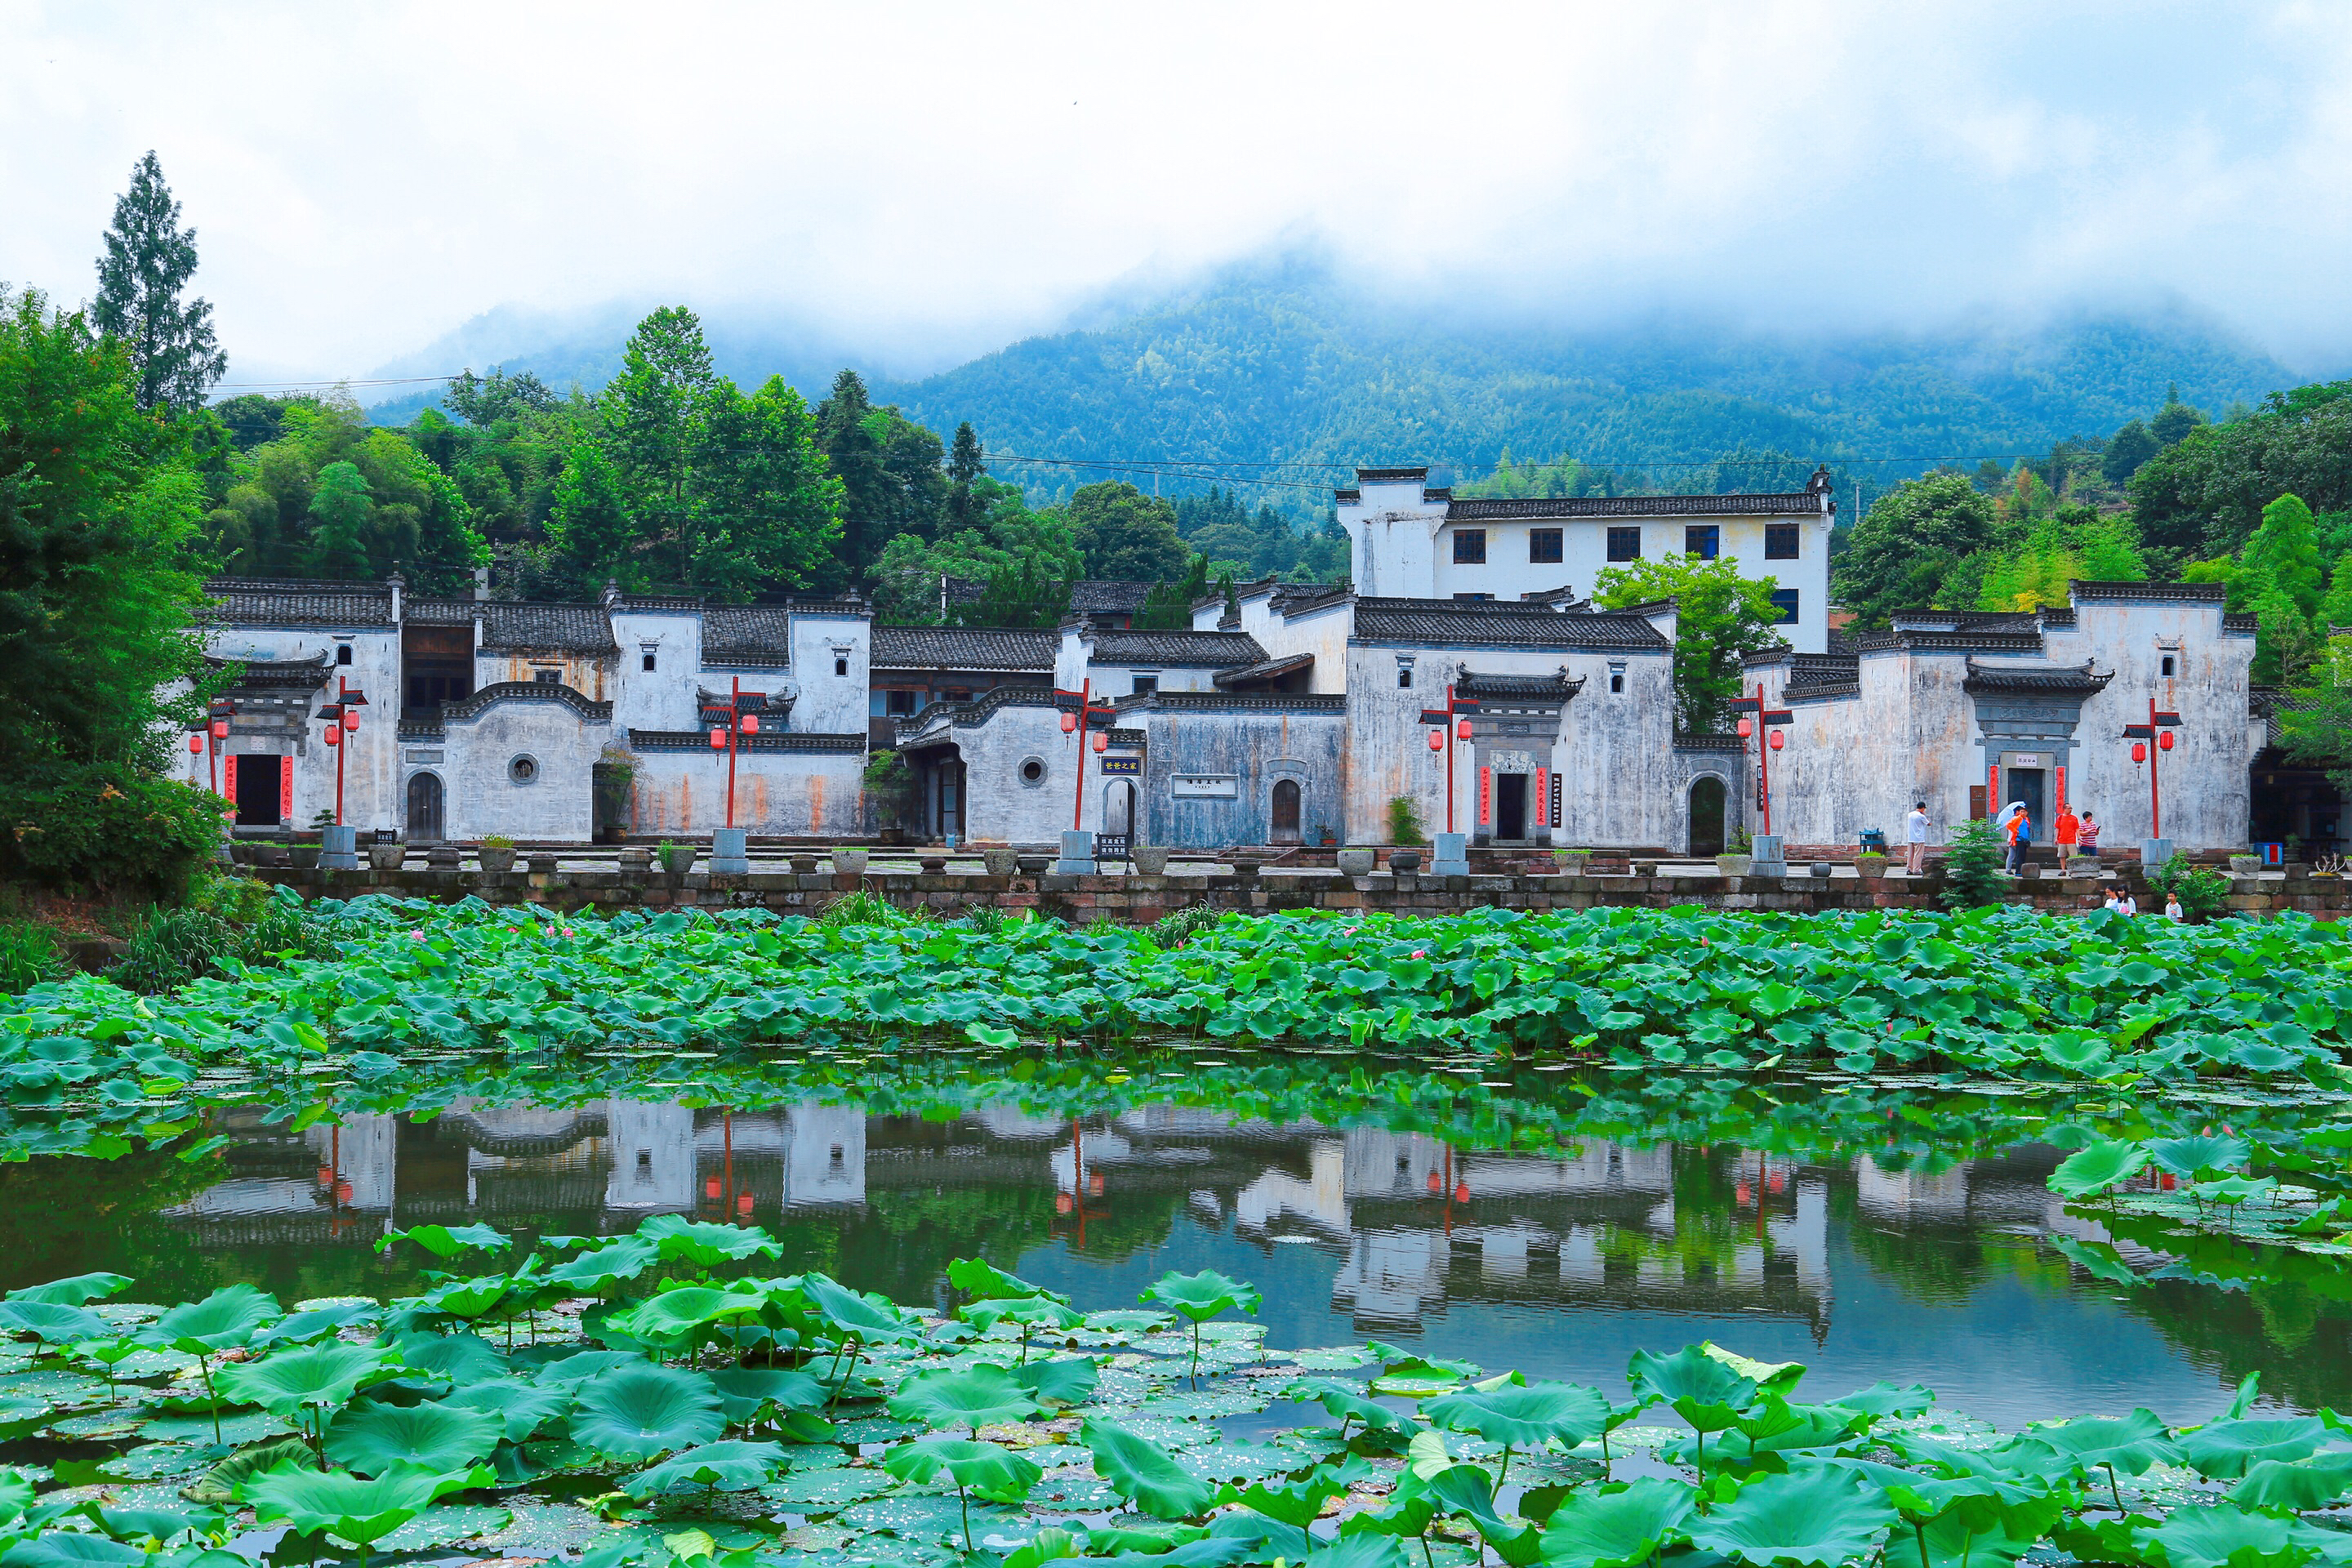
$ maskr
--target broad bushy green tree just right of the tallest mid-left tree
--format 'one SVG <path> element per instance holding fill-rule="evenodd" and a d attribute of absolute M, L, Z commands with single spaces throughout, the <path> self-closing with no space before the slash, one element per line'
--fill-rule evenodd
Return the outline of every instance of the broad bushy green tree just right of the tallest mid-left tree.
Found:
<path fill-rule="evenodd" d="M 769 376 L 750 397 L 722 381 L 703 440 L 689 581 L 748 602 L 828 576 L 842 536 L 842 482 L 826 470 L 816 416 L 800 393 L 783 376 Z"/>

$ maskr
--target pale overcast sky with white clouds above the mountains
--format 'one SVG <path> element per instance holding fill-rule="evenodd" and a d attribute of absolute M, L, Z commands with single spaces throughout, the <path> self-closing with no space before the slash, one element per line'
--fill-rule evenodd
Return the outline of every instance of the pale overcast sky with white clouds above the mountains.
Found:
<path fill-rule="evenodd" d="M 616 299 L 917 369 L 1282 244 L 1592 320 L 2185 301 L 2352 357 L 2336 2 L 0 0 L 0 280 L 85 296 L 146 148 L 233 381 Z"/>

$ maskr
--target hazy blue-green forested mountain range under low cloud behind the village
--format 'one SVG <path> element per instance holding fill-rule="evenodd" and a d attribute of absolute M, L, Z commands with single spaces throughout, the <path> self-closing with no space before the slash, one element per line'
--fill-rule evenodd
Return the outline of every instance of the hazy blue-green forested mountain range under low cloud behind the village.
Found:
<path fill-rule="evenodd" d="M 501 362 L 597 388 L 630 324 L 621 308 L 492 313 L 416 355 L 412 374 Z M 1973 468 L 2105 437 L 2176 383 L 2220 416 L 2300 381 L 2192 313 L 1917 334 L 1762 334 L 1689 317 L 1562 327 L 1414 310 L 1303 263 L 1242 268 L 1112 320 L 1096 310 L 1082 329 L 922 378 L 880 374 L 809 327 L 720 313 L 703 324 L 743 386 L 774 371 L 821 397 L 851 364 L 875 402 L 941 433 L 969 418 L 990 468 L 1040 501 L 1101 477 L 1150 487 L 1157 470 L 1169 491 L 1254 480 L 1254 498 L 1284 510 L 1319 510 L 1350 463 L 1437 463 L 1468 480 L 1503 451 L 1639 470 L 1621 477 L 1668 491 L 1773 489 L 1830 461 L 1877 489 L 1940 461 Z M 379 404 L 376 418 L 402 421 L 428 400 Z"/>

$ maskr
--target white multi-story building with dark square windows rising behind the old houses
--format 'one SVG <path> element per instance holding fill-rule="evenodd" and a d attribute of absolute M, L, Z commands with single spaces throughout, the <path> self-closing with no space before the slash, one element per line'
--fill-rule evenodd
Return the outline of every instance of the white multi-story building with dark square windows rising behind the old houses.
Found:
<path fill-rule="evenodd" d="M 1773 581 L 1783 635 L 1830 646 L 1830 470 L 1785 496 L 1456 498 L 1428 468 L 1357 468 L 1336 491 L 1355 543 L 1355 590 L 1383 599 L 1590 595 L 1606 567 L 1668 555 L 1738 562 Z"/>

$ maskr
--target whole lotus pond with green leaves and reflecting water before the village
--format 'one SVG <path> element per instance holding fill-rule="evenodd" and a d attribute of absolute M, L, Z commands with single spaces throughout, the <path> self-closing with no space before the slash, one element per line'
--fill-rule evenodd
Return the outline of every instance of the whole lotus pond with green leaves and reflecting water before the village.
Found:
<path fill-rule="evenodd" d="M 325 919 L 0 1004 L 5 1568 L 2352 1559 L 2324 926 Z"/>

